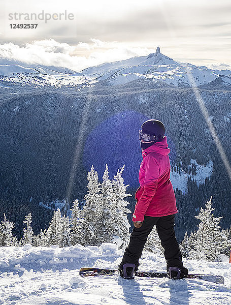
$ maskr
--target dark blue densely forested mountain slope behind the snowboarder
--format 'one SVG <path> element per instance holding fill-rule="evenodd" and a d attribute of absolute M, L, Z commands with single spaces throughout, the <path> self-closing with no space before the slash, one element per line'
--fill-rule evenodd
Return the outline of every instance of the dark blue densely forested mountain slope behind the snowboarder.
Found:
<path fill-rule="evenodd" d="M 231 92 L 219 87 L 199 90 L 230 158 Z M 101 82 L 80 91 L 73 87 L 68 93 L 65 88 L 34 87 L 12 95 L 2 89 L 1 96 L 0 217 L 5 212 L 18 235 L 28 212 L 34 215 L 34 228 L 47 227 L 52 211 L 39 202 L 61 200 L 70 193 L 76 150 L 69 203 L 83 199 L 90 166 L 101 177 L 106 163 L 111 177 L 125 164 L 125 184 L 134 195 L 142 158 L 138 130 L 148 118 L 166 125 L 173 172 L 198 174 L 191 159 L 203 166 L 213 163 L 204 184 L 196 185 L 191 176 L 187 191 L 176 190 L 178 236 L 195 228 L 195 210 L 211 195 L 217 216 L 224 216 L 221 225 L 230 226 L 230 180 L 191 88 L 135 80 L 115 86 Z M 133 209 L 134 196 L 128 200 Z"/>

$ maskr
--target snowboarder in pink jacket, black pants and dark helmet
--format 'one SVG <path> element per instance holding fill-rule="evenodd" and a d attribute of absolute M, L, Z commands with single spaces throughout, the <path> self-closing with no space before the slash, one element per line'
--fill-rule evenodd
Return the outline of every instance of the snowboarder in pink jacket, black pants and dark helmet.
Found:
<path fill-rule="evenodd" d="M 138 270 L 145 242 L 154 225 L 164 248 L 167 271 L 172 273 L 170 277 L 182 279 L 188 274 L 175 237 L 177 207 L 170 181 L 170 148 L 164 133 L 164 125 L 155 119 L 145 121 L 139 131 L 143 161 L 139 171 L 140 187 L 135 195 L 134 229 L 119 265 L 123 278 L 132 278 Z"/>

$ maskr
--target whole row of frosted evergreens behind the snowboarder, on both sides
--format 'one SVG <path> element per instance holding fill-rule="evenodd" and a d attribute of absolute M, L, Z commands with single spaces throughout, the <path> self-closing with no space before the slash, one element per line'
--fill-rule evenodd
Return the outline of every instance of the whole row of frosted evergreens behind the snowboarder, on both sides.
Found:
<path fill-rule="evenodd" d="M 22 247 L 26 244 L 35 247 L 70 247 L 77 244 L 82 246 L 100 246 L 103 242 L 116 243 L 118 248 L 125 248 L 129 241 L 129 222 L 127 214 L 131 211 L 126 208 L 128 202 L 125 197 L 128 185 L 124 185 L 122 172 L 124 166 L 118 169 L 114 179 L 109 179 L 108 165 L 106 164 L 102 182 L 98 181 L 97 171 L 93 166 L 87 174 L 87 194 L 84 197 L 85 205 L 80 206 L 76 199 L 71 209 L 71 217 L 61 215 L 59 209 L 54 212 L 48 229 L 41 230 L 34 235 L 31 227 L 32 217 L 29 213 L 24 220 L 23 236 L 19 240 L 12 234 L 13 222 L 6 219 L 0 224 L 0 246 Z M 220 230 L 219 222 L 222 217 L 212 214 L 212 197 L 201 207 L 196 219 L 200 220 L 197 230 L 187 232 L 180 243 L 182 256 L 186 259 L 219 260 L 220 254 L 229 256 L 231 249 L 230 229 Z M 145 250 L 155 254 L 163 254 L 160 239 L 154 226 L 145 244 Z"/>

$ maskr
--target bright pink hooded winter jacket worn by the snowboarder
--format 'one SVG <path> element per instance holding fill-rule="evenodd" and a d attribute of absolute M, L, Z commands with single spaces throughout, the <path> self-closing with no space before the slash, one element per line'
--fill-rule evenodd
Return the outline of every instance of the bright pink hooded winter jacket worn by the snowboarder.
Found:
<path fill-rule="evenodd" d="M 170 148 L 167 138 L 142 150 L 140 187 L 136 192 L 137 204 L 133 221 L 143 221 L 144 216 L 167 216 L 177 213 L 176 198 L 170 181 Z"/>

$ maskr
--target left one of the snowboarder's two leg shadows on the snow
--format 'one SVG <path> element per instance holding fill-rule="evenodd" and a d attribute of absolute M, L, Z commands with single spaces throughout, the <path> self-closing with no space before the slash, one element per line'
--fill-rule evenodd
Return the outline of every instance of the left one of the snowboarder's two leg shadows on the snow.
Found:
<path fill-rule="evenodd" d="M 146 304 L 140 284 L 135 280 L 125 280 L 119 277 L 118 285 L 122 286 L 126 304 Z"/>

